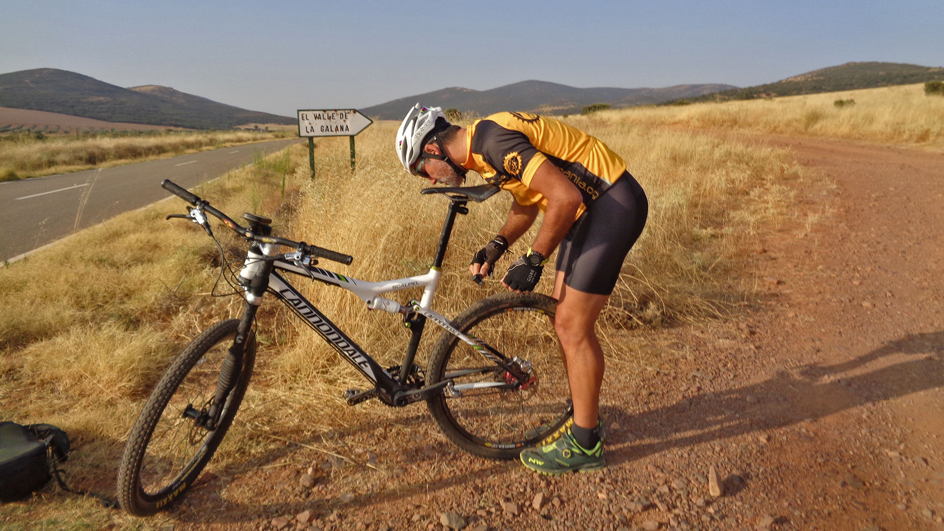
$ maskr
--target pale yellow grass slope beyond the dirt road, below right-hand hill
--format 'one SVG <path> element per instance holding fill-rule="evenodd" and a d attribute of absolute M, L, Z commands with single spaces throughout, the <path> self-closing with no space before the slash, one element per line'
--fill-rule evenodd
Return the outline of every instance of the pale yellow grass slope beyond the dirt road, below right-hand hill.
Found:
<path fill-rule="evenodd" d="M 836 100 L 855 101 L 836 107 Z M 944 147 L 944 97 L 924 85 L 828 94 L 642 107 L 600 112 L 599 119 L 637 125 L 722 128 L 868 142 Z"/>

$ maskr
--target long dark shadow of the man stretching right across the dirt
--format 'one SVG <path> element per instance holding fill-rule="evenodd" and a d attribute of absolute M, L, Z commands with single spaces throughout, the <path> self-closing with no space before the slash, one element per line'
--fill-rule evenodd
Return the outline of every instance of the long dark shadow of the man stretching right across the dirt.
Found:
<path fill-rule="evenodd" d="M 841 364 L 806 366 L 794 374 L 782 371 L 755 385 L 702 393 L 626 415 L 624 425 L 632 426 L 632 432 L 645 440 L 608 455 L 608 461 L 618 466 L 673 448 L 782 428 L 940 387 L 944 385 L 944 355 L 936 351 L 944 352 L 944 332 L 907 335 Z M 893 354 L 924 356 L 862 372 L 869 363 Z M 691 435 L 673 437 L 679 433 Z"/>

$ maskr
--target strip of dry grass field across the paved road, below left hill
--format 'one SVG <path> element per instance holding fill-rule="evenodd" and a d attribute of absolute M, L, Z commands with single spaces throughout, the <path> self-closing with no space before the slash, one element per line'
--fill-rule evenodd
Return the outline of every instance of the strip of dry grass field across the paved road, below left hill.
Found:
<path fill-rule="evenodd" d="M 9 133 L 0 136 L 0 181 L 140 163 L 217 147 L 295 136 L 293 131 L 158 131 L 80 136 Z"/>

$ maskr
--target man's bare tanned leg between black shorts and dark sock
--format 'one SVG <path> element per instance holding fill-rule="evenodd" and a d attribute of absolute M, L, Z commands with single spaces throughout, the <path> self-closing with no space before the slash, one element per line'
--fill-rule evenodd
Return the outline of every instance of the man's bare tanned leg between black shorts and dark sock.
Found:
<path fill-rule="evenodd" d="M 574 423 L 582 428 L 595 428 L 599 388 L 603 383 L 603 350 L 594 325 L 609 296 L 568 287 L 564 273 L 558 271 L 553 297 L 558 300 L 554 328 L 564 348 Z"/>

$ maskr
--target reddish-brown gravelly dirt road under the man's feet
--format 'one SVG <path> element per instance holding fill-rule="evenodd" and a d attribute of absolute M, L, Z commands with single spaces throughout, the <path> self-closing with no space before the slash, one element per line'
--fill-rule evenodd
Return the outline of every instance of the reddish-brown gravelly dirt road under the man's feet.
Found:
<path fill-rule="evenodd" d="M 474 459 L 416 408 L 317 441 L 348 460 L 289 444 L 267 456 L 286 466 L 211 476 L 167 516 L 177 529 L 444 529 L 442 512 L 476 530 L 944 529 L 944 154 L 745 142 L 789 147 L 836 187 L 756 249 L 760 296 L 735 319 L 626 338 L 670 355 L 608 372 L 607 470 L 546 478 Z M 299 485 L 307 463 L 313 488 Z"/>

